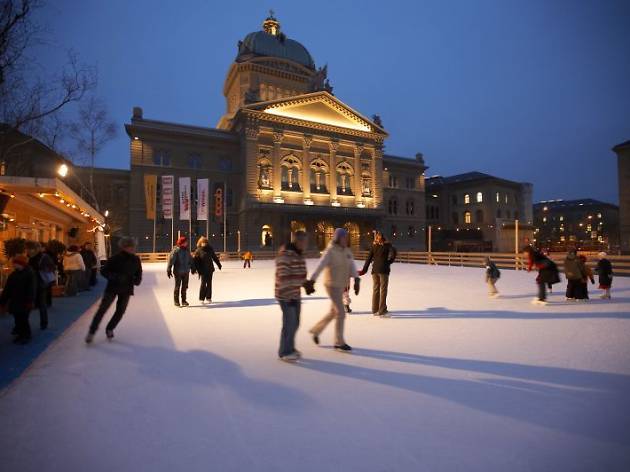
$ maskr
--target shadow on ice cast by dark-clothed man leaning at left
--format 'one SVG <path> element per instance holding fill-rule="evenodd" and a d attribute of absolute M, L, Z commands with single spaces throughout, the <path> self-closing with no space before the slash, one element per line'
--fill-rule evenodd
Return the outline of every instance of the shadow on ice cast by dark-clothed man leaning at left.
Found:
<path fill-rule="evenodd" d="M 103 352 L 136 365 L 140 377 L 150 377 L 162 384 L 226 389 L 228 396 L 239 397 L 244 403 L 270 410 L 303 409 L 312 403 L 312 399 L 302 391 L 250 377 L 236 362 L 208 351 L 176 351 L 116 342 Z"/>

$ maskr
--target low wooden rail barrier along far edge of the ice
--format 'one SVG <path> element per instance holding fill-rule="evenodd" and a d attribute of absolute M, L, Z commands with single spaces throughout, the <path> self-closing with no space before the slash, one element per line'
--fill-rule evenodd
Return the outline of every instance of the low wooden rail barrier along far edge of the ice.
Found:
<path fill-rule="evenodd" d="M 226 252 L 217 253 L 221 260 L 240 260 L 241 253 Z M 140 260 L 145 263 L 157 263 L 168 261 L 167 252 L 144 252 L 139 253 Z M 309 251 L 306 257 L 319 257 L 319 251 Z M 368 251 L 355 251 L 355 257 L 358 260 L 365 260 Z M 592 269 L 597 265 L 597 254 L 584 253 L 588 258 L 587 265 Z M 275 251 L 257 251 L 254 252 L 254 261 L 270 260 L 276 257 Z M 514 253 L 496 253 L 496 252 L 418 252 L 418 251 L 399 251 L 396 262 L 404 264 L 427 264 L 436 266 L 451 267 L 484 267 L 486 257 L 490 257 L 497 267 L 501 269 L 526 270 L 527 260 L 521 254 Z M 556 264 L 560 271 L 563 269 L 565 253 L 552 253 L 549 256 Z M 615 275 L 630 276 L 630 256 L 608 256 L 613 265 Z"/>

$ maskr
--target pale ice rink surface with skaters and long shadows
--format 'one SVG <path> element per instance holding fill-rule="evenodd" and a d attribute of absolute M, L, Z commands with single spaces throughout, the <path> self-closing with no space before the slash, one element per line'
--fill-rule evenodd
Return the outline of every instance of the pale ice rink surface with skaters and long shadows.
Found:
<path fill-rule="evenodd" d="M 397 264 L 390 319 L 363 277 L 352 354 L 308 335 L 318 284 L 287 364 L 271 261 L 226 263 L 210 307 L 144 269 L 113 342 L 83 342 L 93 307 L 2 393 L 2 470 L 630 470 L 630 279 L 540 307 L 534 274 L 504 270 L 492 300 L 482 269 Z"/>

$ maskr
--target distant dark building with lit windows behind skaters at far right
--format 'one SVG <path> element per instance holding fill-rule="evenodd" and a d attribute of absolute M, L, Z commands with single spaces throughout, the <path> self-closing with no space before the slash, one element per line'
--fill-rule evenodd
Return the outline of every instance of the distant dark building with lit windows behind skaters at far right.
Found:
<path fill-rule="evenodd" d="M 535 242 L 544 249 L 619 250 L 619 208 L 590 198 L 534 205 Z"/>

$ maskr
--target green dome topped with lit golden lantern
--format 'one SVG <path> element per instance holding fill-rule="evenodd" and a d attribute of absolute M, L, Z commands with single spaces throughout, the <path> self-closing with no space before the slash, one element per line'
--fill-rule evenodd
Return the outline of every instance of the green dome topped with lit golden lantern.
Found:
<path fill-rule="evenodd" d="M 243 62 L 254 57 L 278 57 L 315 69 L 315 62 L 308 50 L 302 44 L 288 39 L 280 32 L 280 23 L 273 13 L 265 19 L 263 31 L 255 31 L 245 36 L 238 45 L 237 62 Z"/>

